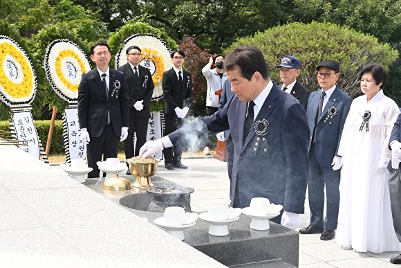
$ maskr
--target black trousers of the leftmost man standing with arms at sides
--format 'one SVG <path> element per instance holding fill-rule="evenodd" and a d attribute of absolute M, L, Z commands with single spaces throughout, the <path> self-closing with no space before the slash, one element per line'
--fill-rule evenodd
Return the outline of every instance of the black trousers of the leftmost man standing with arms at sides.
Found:
<path fill-rule="evenodd" d="M 93 170 L 88 173 L 88 178 L 99 177 L 100 170 L 97 167 L 97 161 L 102 161 L 102 156 L 103 160 L 117 157 L 119 145 L 120 136 L 115 134 L 112 123 L 104 127 L 99 137 L 91 136 L 91 141 L 86 145 L 86 152 L 88 152 L 88 167 Z"/>

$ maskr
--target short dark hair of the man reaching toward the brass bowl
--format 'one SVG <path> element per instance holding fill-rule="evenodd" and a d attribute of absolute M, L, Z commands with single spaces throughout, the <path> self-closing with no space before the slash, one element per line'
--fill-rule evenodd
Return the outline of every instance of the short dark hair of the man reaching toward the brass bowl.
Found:
<path fill-rule="evenodd" d="M 236 46 L 224 60 L 224 70 L 232 71 L 239 68 L 243 78 L 251 80 L 252 75 L 259 71 L 263 79 L 269 78 L 268 66 L 262 51 L 256 46 Z"/>

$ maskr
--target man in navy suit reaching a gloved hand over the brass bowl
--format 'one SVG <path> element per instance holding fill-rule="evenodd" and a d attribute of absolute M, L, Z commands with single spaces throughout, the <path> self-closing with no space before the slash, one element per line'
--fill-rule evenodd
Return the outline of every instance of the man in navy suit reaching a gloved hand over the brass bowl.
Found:
<path fill-rule="evenodd" d="M 234 48 L 225 71 L 235 96 L 212 116 L 185 125 L 140 149 L 144 157 L 163 147 L 187 143 L 187 133 L 207 135 L 230 129 L 232 158 L 231 205 L 245 208 L 253 197 L 283 205 L 272 220 L 297 229 L 304 213 L 308 179 L 309 129 L 304 107 L 268 77 L 261 51 Z M 248 132 L 248 134 L 247 134 Z"/>

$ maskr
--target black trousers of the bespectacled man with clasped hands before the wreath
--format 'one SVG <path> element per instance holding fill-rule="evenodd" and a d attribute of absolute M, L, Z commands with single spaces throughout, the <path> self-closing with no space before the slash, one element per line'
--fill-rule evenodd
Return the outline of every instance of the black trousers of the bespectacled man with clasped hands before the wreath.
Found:
<path fill-rule="evenodd" d="M 131 108 L 130 108 L 131 109 Z M 124 153 L 125 159 L 137 157 L 139 150 L 146 143 L 147 125 L 149 118 L 136 116 L 135 113 L 131 112 L 129 116 L 129 129 L 127 139 L 124 140 Z M 133 149 L 133 134 L 136 133 L 136 145 L 135 151 Z M 129 167 L 129 164 L 127 163 Z"/>

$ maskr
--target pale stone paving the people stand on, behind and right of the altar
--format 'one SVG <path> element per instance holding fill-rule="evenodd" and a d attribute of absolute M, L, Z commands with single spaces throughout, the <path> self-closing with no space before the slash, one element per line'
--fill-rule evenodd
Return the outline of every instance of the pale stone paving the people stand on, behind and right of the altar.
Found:
<path fill-rule="evenodd" d="M 183 159 L 187 170 L 167 170 L 164 162 L 158 166 L 158 176 L 174 181 L 183 186 L 192 187 L 191 195 L 193 211 L 206 211 L 211 202 L 230 202 L 227 163 L 213 158 Z M 305 204 L 306 213 L 302 216 L 301 228 L 309 224 L 308 200 Z M 321 241 L 319 234 L 300 235 L 299 237 L 299 267 L 301 268 L 386 268 L 401 267 L 392 265 L 389 259 L 400 252 L 358 253 L 345 251 L 335 241 Z"/>

